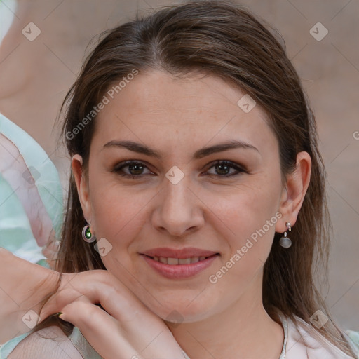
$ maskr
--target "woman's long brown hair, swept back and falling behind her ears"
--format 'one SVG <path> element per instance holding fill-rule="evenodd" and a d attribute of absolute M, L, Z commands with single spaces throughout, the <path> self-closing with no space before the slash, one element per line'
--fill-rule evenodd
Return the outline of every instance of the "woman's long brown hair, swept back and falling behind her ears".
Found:
<path fill-rule="evenodd" d="M 76 135 L 68 134 L 74 134 L 74 128 L 79 128 L 104 93 L 133 69 L 140 74 L 152 69 L 173 76 L 211 74 L 250 94 L 266 111 L 278 140 L 283 179 L 294 170 L 299 151 L 308 152 L 312 163 L 310 184 L 290 232 L 292 247 L 282 248 L 278 244 L 281 233 L 276 233 L 264 264 L 264 308 L 276 321 L 275 309 L 280 309 L 294 322 L 298 316 L 307 323 L 321 309 L 330 321 L 318 331 L 353 355 L 315 285 L 314 273 L 316 269 L 326 273 L 329 252 L 325 168 L 309 100 L 280 34 L 247 8 L 230 1 L 190 1 L 165 6 L 142 18 L 137 15 L 136 20 L 102 36 L 62 103 L 62 109 L 66 108 L 62 138 L 69 156 L 80 154 L 86 171 L 96 118 Z M 105 269 L 93 245 L 81 237 L 85 224 L 71 175 L 58 271 Z M 64 325 L 62 328 L 65 330 Z"/>

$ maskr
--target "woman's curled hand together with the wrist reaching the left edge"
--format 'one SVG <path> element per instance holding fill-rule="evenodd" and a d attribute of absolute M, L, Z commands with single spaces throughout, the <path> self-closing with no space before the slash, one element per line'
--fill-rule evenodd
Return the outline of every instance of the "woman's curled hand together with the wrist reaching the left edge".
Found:
<path fill-rule="evenodd" d="M 60 318 L 79 327 L 104 359 L 184 358 L 163 320 L 108 271 L 62 274 L 55 292 L 59 278 L 0 248 L 0 343 L 30 330 L 22 320 L 30 310 L 39 313 L 38 323 L 62 311 Z"/>

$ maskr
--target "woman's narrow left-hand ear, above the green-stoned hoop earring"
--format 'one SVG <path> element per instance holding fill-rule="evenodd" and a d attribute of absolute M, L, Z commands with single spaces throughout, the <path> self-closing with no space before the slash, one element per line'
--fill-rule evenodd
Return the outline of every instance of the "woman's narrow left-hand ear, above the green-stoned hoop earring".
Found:
<path fill-rule="evenodd" d="M 85 217 L 86 221 L 90 223 L 92 213 L 91 213 L 91 205 L 89 200 L 88 181 L 86 180 L 85 175 L 83 173 L 82 165 L 83 165 L 83 160 L 79 154 L 75 154 L 74 156 L 72 156 L 72 162 L 71 162 L 72 173 L 74 174 L 77 193 L 79 194 L 79 200 L 83 212 L 83 217 Z"/>

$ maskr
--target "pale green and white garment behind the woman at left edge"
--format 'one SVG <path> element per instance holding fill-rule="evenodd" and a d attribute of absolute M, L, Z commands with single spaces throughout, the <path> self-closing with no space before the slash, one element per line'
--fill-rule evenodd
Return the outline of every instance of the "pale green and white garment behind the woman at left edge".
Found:
<path fill-rule="evenodd" d="M 62 187 L 46 151 L 0 114 L 0 247 L 47 266 L 41 248 L 59 239 Z"/>

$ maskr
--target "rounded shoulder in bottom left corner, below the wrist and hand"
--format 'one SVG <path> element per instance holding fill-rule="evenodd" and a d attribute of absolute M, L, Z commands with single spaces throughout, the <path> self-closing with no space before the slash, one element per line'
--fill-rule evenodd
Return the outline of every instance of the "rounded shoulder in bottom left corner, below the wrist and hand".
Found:
<path fill-rule="evenodd" d="M 83 359 L 72 342 L 57 326 L 30 334 L 15 346 L 8 359 Z"/>

